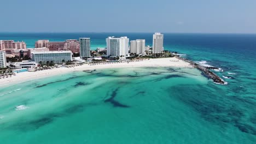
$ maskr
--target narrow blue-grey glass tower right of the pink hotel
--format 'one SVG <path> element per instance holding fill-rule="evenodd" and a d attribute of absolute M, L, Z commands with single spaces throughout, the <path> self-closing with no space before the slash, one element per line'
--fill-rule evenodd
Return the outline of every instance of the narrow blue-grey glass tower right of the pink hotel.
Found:
<path fill-rule="evenodd" d="M 85 59 L 91 57 L 91 42 L 90 38 L 79 38 L 80 43 L 80 58 Z"/>

